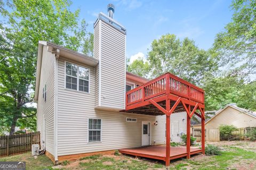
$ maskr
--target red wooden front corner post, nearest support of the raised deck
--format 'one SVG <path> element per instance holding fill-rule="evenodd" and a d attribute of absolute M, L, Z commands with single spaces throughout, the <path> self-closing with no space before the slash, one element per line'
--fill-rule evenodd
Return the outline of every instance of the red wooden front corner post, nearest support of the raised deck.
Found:
<path fill-rule="evenodd" d="M 166 99 L 166 111 L 170 111 L 170 99 Z M 166 153 L 165 153 L 165 166 L 170 166 L 170 114 L 166 114 Z"/>

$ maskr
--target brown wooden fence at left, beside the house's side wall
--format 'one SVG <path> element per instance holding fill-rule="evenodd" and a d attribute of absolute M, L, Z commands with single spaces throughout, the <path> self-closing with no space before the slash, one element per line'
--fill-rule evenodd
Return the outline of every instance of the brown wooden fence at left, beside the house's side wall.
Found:
<path fill-rule="evenodd" d="M 33 144 L 40 145 L 40 132 L 0 136 L 0 157 L 30 151 Z"/>

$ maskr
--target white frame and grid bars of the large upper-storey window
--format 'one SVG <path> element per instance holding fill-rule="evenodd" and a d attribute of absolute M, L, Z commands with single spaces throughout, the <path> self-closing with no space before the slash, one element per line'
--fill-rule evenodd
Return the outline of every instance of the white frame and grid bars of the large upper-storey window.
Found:
<path fill-rule="evenodd" d="M 67 74 L 66 74 L 66 65 L 67 65 L 67 63 L 70 63 L 70 64 L 75 64 L 76 66 L 77 66 L 77 77 L 74 77 L 74 76 L 72 76 L 72 75 L 68 75 L 69 77 L 73 77 L 73 78 L 76 78 L 77 80 L 76 80 L 76 86 L 77 86 L 77 88 L 76 88 L 76 90 L 74 90 L 74 89 L 68 89 L 66 86 L 67 86 L 67 83 L 66 83 L 66 77 L 67 77 Z M 64 69 L 64 73 L 65 73 L 65 84 L 64 84 L 64 86 L 65 86 L 65 89 L 66 90 L 72 90 L 72 91 L 78 91 L 78 92 L 84 92 L 85 94 L 90 94 L 90 74 L 91 74 L 91 70 L 88 68 L 88 67 L 85 67 L 85 66 L 83 66 L 83 65 L 79 65 L 79 64 L 76 64 L 76 63 L 72 63 L 72 62 L 69 62 L 69 61 L 65 61 L 64 62 L 64 64 L 65 64 L 65 69 Z M 86 91 L 79 91 L 79 79 L 81 79 L 81 78 L 79 78 L 79 76 L 78 76 L 78 74 L 79 74 L 79 66 L 81 66 L 81 67 L 84 67 L 85 69 L 88 69 L 89 70 L 89 78 L 88 78 L 88 92 L 86 92 Z M 85 80 L 85 79 L 82 79 L 82 80 Z M 86 80 L 87 81 L 87 80 Z"/>

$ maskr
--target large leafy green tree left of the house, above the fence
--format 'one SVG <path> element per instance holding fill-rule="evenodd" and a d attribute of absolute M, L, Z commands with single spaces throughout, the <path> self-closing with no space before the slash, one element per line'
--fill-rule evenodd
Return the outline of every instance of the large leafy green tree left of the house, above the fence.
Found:
<path fill-rule="evenodd" d="M 36 109 L 31 106 L 35 84 L 38 40 L 51 41 L 73 50 L 86 41 L 86 23 L 78 21 L 68 0 L 1 1 L 0 115 L 1 126 L 35 129 Z M 9 10 L 6 10 L 9 9 Z M 5 25 L 5 27 L 3 26 Z M 29 118 L 29 121 L 28 121 Z"/>

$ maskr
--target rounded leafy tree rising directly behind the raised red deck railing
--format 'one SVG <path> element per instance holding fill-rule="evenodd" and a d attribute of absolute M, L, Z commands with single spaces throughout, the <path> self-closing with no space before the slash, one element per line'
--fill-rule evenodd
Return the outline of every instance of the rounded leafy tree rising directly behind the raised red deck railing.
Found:
<path fill-rule="evenodd" d="M 151 44 L 147 61 L 152 77 L 171 72 L 189 82 L 199 84 L 208 72 L 218 69 L 214 53 L 199 49 L 193 40 L 181 41 L 175 35 L 163 35 Z"/>

